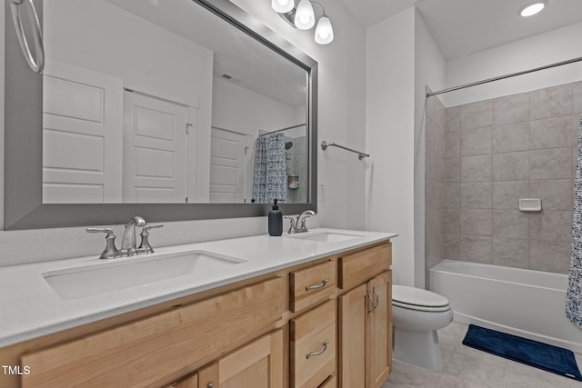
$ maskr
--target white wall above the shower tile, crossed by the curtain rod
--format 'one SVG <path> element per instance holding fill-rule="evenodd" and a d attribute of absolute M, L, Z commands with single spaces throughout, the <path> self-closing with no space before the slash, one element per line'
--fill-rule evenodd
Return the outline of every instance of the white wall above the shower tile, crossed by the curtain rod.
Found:
<path fill-rule="evenodd" d="M 447 63 L 447 87 L 474 83 L 581 57 L 580 36 L 582 23 L 577 23 L 450 61 Z M 446 106 L 468 104 L 581 79 L 582 63 L 578 62 L 447 93 L 443 95 L 443 101 Z"/>

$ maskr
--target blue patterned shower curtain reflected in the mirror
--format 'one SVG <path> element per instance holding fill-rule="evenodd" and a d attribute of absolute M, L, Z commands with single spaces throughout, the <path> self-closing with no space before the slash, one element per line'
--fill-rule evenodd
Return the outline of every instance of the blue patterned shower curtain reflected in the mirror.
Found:
<path fill-rule="evenodd" d="M 266 134 L 256 139 L 253 199 L 256 203 L 286 202 L 285 135 Z"/>

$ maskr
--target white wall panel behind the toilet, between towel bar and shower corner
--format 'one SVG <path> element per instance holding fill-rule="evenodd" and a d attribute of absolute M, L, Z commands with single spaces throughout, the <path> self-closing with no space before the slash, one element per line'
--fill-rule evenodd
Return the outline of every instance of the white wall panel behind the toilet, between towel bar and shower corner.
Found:
<path fill-rule="evenodd" d="M 366 31 L 366 230 L 399 234 L 395 284 L 414 284 L 415 8 Z"/>

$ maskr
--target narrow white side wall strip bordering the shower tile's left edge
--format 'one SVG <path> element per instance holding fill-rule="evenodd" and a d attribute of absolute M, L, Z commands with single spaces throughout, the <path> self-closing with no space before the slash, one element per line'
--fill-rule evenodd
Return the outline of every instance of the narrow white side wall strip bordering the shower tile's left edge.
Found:
<path fill-rule="evenodd" d="M 426 86 L 432 90 L 445 87 L 445 58 L 426 28 L 418 11 L 415 13 L 415 285 L 425 287 L 425 109 Z"/>

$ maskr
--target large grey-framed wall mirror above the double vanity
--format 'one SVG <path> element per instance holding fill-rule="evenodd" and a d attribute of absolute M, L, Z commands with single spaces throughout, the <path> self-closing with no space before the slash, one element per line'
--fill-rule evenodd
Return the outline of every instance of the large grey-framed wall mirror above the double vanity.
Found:
<path fill-rule="evenodd" d="M 40 3 L 45 74 L 6 55 L 5 229 L 316 208 L 311 58 L 227 0 Z"/>

